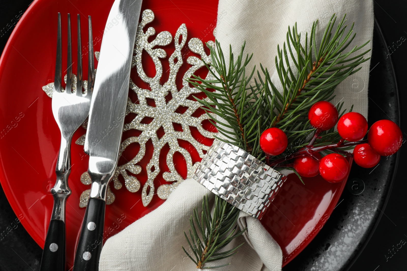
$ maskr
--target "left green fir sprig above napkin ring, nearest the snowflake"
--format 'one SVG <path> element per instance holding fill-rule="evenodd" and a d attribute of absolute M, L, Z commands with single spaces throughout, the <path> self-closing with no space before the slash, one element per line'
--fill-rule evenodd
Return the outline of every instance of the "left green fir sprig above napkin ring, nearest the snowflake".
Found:
<path fill-rule="evenodd" d="M 228 142 L 247 151 L 251 149 L 251 137 L 248 137 L 246 129 L 247 127 L 252 127 L 256 121 L 256 119 L 249 119 L 247 117 L 256 108 L 252 108 L 249 111 L 247 105 L 254 98 L 254 95 L 258 94 L 254 92 L 248 93 L 246 89 L 247 82 L 251 80 L 255 71 L 253 68 L 251 74 L 246 77 L 246 66 L 249 64 L 252 55 L 243 55 L 245 48 L 245 44 L 243 44 L 241 52 L 235 61 L 232 47 L 230 46 L 229 65 L 226 66 L 225 56 L 220 48 L 220 44 L 218 41 L 215 41 L 215 43 L 215 47 L 208 46 L 212 64 L 204 63 L 215 80 L 204 80 L 193 75 L 194 78 L 186 81 L 204 92 L 208 97 L 203 100 L 194 98 L 205 106 L 204 110 L 206 110 L 218 132 Z M 208 89 L 212 89 L 212 91 Z M 223 121 L 216 119 L 214 115 L 221 117 Z M 225 139 L 221 140 L 225 141 Z"/>

